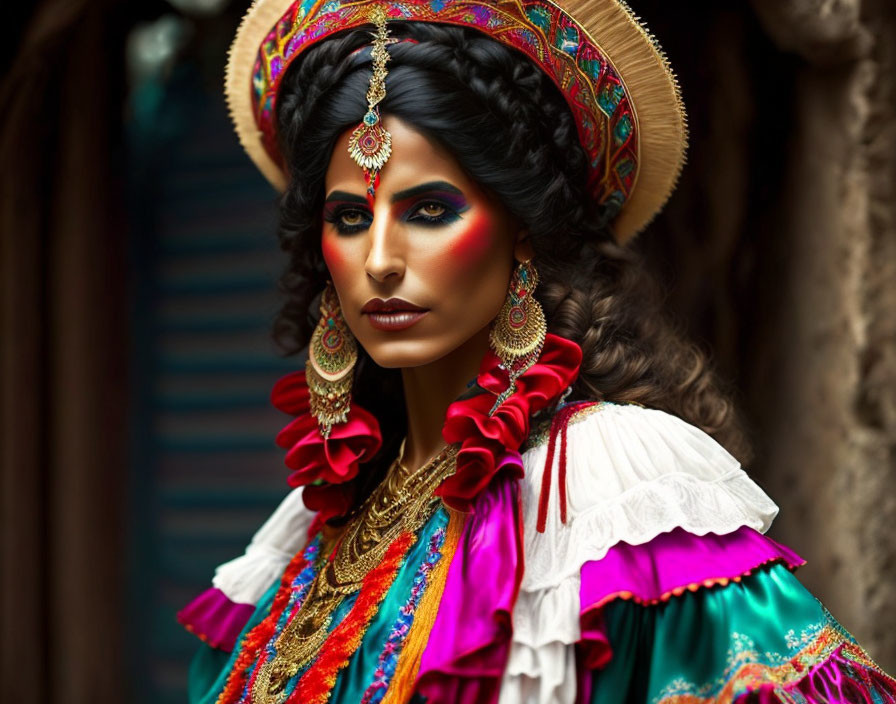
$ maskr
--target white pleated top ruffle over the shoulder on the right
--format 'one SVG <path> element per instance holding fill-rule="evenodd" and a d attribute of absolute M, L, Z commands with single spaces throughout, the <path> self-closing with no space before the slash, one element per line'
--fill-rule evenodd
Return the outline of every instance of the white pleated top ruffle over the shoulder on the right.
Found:
<path fill-rule="evenodd" d="M 559 452 L 557 453 L 559 455 Z M 547 447 L 523 455 L 523 591 L 555 586 L 616 543 L 646 543 L 749 526 L 765 532 L 778 507 L 709 435 L 662 411 L 602 404 L 569 427 L 567 519 L 560 521 L 554 460 L 547 525 L 536 530 Z"/>

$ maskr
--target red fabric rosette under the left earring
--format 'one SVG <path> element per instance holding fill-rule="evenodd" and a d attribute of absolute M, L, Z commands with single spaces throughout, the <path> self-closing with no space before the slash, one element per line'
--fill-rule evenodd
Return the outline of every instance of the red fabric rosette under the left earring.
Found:
<path fill-rule="evenodd" d="M 317 419 L 311 415 L 304 371 L 280 379 L 271 392 L 271 403 L 296 416 L 276 439 L 277 445 L 287 450 L 286 466 L 294 470 L 287 482 L 293 487 L 306 487 L 305 505 L 323 512 L 324 520 L 342 515 L 352 501 L 346 483 L 358 475 L 358 465 L 369 461 L 383 444 L 376 418 L 352 404 L 348 420 L 334 425 L 330 437 L 324 439 Z"/>

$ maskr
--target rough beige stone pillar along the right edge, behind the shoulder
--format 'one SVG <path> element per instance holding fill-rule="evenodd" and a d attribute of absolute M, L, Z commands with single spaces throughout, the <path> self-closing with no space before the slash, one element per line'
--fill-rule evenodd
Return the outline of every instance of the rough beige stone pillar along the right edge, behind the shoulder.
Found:
<path fill-rule="evenodd" d="M 779 236 L 774 382 L 756 395 L 776 534 L 803 579 L 896 670 L 896 19 L 887 0 L 756 0 L 804 60 Z M 759 379 L 754 380 L 759 384 Z"/>

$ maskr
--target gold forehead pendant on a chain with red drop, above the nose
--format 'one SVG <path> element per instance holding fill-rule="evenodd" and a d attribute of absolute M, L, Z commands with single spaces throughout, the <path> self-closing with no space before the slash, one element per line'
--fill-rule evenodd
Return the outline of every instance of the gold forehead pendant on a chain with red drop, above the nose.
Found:
<path fill-rule="evenodd" d="M 370 17 L 376 25 L 373 35 L 373 49 L 370 57 L 373 59 L 373 73 L 370 75 L 370 85 L 367 88 L 367 112 L 361 120 L 361 124 L 352 132 L 348 142 L 348 153 L 352 159 L 364 169 L 364 179 L 367 182 L 367 200 L 371 201 L 376 195 L 376 187 L 379 185 L 380 169 L 385 166 L 392 154 L 392 135 L 383 127 L 380 120 L 379 104 L 386 97 L 386 62 L 389 61 L 389 52 L 386 44 L 389 42 L 389 28 L 386 26 L 386 14 L 382 8 L 376 8 Z"/>

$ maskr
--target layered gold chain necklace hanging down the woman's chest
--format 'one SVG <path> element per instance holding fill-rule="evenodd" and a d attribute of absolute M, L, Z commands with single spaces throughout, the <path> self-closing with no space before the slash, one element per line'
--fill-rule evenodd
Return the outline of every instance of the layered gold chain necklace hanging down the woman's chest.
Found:
<path fill-rule="evenodd" d="M 443 448 L 414 471 L 402 464 L 403 458 L 404 442 L 386 478 L 346 526 L 333 559 L 324 560 L 298 613 L 277 638 L 276 655 L 258 673 L 252 701 L 283 701 L 287 682 L 314 659 L 327 640 L 336 608 L 360 590 L 364 577 L 399 535 L 416 533 L 435 513 L 441 499 L 433 492 L 454 473 L 457 447 Z"/>

